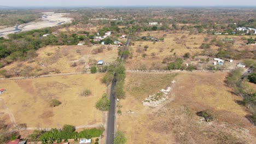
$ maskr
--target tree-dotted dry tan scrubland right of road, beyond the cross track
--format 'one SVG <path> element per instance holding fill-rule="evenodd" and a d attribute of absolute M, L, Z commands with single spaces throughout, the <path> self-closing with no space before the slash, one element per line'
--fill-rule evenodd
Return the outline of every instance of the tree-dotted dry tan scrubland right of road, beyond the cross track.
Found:
<path fill-rule="evenodd" d="M 163 37 L 166 34 L 165 37 Z M 229 36 L 229 35 L 207 35 L 207 34 L 189 34 L 187 31 L 150 31 L 141 32 L 139 37 L 150 36 L 156 38 L 164 38 L 164 41 L 158 41 L 153 44 L 153 41 L 132 41 L 134 45 L 130 46 L 132 52 L 132 58 L 128 58 L 126 61 L 126 69 L 156 69 L 165 67 L 165 64 L 161 64 L 162 60 L 167 56 L 182 57 L 185 53 L 189 52 L 191 56 L 196 55 L 196 58 L 207 58 L 206 56 L 199 56 L 203 49 L 200 46 L 203 43 L 210 43 L 214 38 L 222 40 L 226 38 L 234 39 L 234 44 L 246 44 L 247 40 L 241 40 L 242 37 L 251 38 L 248 35 Z M 205 40 L 207 38 L 208 40 Z M 147 51 L 138 52 L 138 47 L 143 50 L 144 46 L 148 46 Z M 237 50 L 254 50 L 255 46 L 234 45 Z M 211 49 L 213 53 L 218 52 L 218 46 L 212 45 Z M 146 53 L 146 57 L 143 57 L 143 53 Z M 154 53 L 154 55 L 153 55 Z M 175 53 L 175 54 L 174 54 Z M 236 63 L 238 61 L 235 61 Z M 195 62 L 189 62 L 192 64 L 198 64 Z"/>

